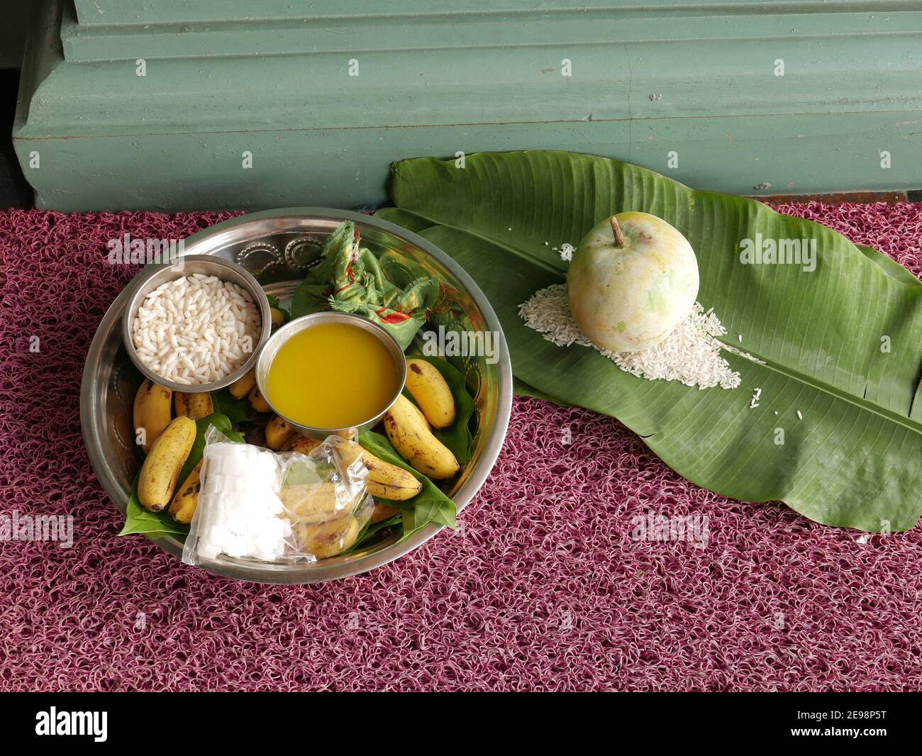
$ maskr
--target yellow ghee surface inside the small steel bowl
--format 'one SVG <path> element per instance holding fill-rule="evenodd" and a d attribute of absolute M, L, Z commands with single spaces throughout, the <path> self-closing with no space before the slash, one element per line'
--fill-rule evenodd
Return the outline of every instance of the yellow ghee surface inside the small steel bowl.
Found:
<path fill-rule="evenodd" d="M 311 428 L 350 428 L 372 419 L 400 389 L 384 343 L 347 323 L 312 325 L 290 337 L 269 365 L 266 398 Z"/>

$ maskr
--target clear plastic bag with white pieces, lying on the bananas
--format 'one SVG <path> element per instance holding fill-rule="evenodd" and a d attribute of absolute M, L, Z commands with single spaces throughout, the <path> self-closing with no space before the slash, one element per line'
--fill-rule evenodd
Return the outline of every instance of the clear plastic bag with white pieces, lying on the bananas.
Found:
<path fill-rule="evenodd" d="M 183 548 L 201 564 L 220 554 L 270 562 L 316 561 L 349 549 L 371 519 L 368 470 L 330 436 L 309 455 L 234 443 L 209 428 L 202 487 Z M 347 455 L 345 458 L 349 458 Z"/>

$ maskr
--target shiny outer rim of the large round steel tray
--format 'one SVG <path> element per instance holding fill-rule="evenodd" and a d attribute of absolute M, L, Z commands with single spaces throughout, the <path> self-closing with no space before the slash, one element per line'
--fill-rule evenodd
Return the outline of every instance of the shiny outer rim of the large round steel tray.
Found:
<path fill-rule="evenodd" d="M 281 224 L 285 219 L 321 219 L 333 222 L 353 220 L 371 226 L 372 228 L 383 230 L 395 236 L 397 239 L 412 244 L 422 252 L 431 255 L 440 265 L 450 271 L 458 281 L 464 284 L 471 298 L 477 304 L 479 313 L 483 317 L 485 324 L 496 333 L 497 355 L 499 357 L 496 363 L 499 395 L 496 412 L 493 418 L 490 438 L 479 457 L 478 465 L 470 470 L 467 479 L 455 493 L 454 501 L 458 512 L 461 512 L 483 485 L 483 482 L 495 465 L 505 440 L 506 431 L 509 427 L 510 415 L 512 413 L 512 362 L 509 358 L 509 348 L 506 344 L 505 335 L 502 332 L 502 325 L 490 301 L 487 300 L 484 293 L 479 289 L 478 285 L 467 271 L 456 263 L 449 254 L 444 253 L 435 244 L 413 231 L 397 226 L 395 223 L 350 210 L 338 210 L 329 207 L 282 207 L 262 210 L 260 212 L 249 213 L 224 220 L 213 226 L 209 226 L 207 229 L 197 231 L 184 241 L 184 247 L 192 254 L 197 245 L 207 242 L 207 240 L 213 237 L 217 238 L 215 242 L 217 246 L 221 241 L 219 237 L 235 229 L 237 226 L 263 220 L 275 220 L 278 224 Z M 278 230 L 284 229 L 279 228 Z M 90 464 L 97 478 L 100 480 L 103 490 L 109 494 L 116 508 L 123 514 L 126 503 L 124 490 L 115 477 L 112 465 L 102 454 L 101 445 L 98 443 L 101 438 L 102 429 L 100 428 L 100 419 L 97 418 L 92 411 L 94 405 L 94 385 L 92 379 L 95 366 L 100 361 L 107 335 L 112 331 L 112 324 L 121 317 L 129 296 L 129 291 L 130 285 L 123 289 L 115 298 L 115 301 L 112 302 L 108 311 L 103 315 L 89 347 L 80 387 L 80 423 Z M 321 583 L 327 580 L 337 580 L 352 577 L 360 573 L 366 573 L 388 562 L 395 561 L 409 551 L 419 548 L 442 529 L 443 526 L 430 523 L 406 540 L 397 541 L 396 543 L 384 547 L 384 549 L 378 549 L 372 553 L 362 555 L 356 554 L 354 555 L 355 559 L 346 562 L 330 563 L 324 560 L 314 562 L 313 565 L 292 568 L 285 565 L 264 565 L 261 563 L 258 565 L 250 565 L 244 562 L 215 561 L 209 562 L 207 565 L 203 565 L 203 567 L 209 573 L 253 583 L 284 585 Z M 182 559 L 182 541 L 167 534 L 160 537 L 153 534 L 145 535 L 148 537 L 148 540 L 157 544 L 161 549 Z"/>

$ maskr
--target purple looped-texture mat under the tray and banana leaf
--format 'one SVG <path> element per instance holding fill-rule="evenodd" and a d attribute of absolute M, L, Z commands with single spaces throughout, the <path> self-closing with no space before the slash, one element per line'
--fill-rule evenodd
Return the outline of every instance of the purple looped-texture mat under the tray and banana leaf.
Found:
<path fill-rule="evenodd" d="M 922 206 L 778 209 L 922 271 Z M 616 420 L 535 399 L 461 530 L 372 573 L 252 585 L 115 537 L 78 412 L 135 272 L 106 242 L 229 217 L 0 213 L 0 506 L 74 522 L 69 549 L 0 542 L 0 690 L 922 689 L 919 527 L 862 537 L 730 501 Z M 707 545 L 633 540 L 650 512 L 706 517 Z"/>

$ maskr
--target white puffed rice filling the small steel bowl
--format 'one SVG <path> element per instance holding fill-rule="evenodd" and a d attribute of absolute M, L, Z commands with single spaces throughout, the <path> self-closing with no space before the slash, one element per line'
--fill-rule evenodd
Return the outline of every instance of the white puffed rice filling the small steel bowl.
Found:
<path fill-rule="evenodd" d="M 132 334 L 138 358 L 176 384 L 210 384 L 249 360 L 263 320 L 246 289 L 194 273 L 151 291 Z"/>

